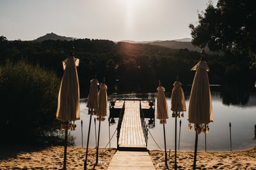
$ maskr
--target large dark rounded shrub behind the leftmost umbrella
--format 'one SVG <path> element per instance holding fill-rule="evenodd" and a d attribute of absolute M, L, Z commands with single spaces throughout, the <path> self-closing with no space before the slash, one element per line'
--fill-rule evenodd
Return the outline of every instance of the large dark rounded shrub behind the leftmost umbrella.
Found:
<path fill-rule="evenodd" d="M 39 65 L 22 60 L 0 66 L 2 142 L 35 143 L 55 132 L 59 87 L 60 78 Z"/>

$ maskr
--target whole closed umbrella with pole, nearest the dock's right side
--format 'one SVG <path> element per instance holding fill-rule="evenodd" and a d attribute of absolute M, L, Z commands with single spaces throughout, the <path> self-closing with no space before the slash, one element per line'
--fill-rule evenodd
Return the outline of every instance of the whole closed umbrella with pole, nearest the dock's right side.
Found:
<path fill-rule="evenodd" d="M 166 152 L 166 139 L 165 139 L 165 127 L 166 119 L 168 119 L 168 107 L 166 103 L 166 97 L 164 94 L 164 87 L 161 86 L 161 81 L 159 80 L 159 87 L 157 87 L 157 112 L 156 118 L 160 120 L 160 124 L 163 124 L 164 129 L 164 151 L 165 151 L 165 165 L 168 168 L 167 164 L 167 152 Z"/>

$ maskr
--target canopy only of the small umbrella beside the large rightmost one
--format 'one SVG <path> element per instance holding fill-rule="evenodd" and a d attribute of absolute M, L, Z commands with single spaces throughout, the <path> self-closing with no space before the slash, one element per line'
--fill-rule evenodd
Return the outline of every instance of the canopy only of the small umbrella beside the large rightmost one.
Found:
<path fill-rule="evenodd" d="M 172 97 L 171 97 L 171 110 L 172 111 L 186 111 L 186 103 L 185 103 L 185 97 L 184 92 L 182 89 L 182 84 L 180 81 L 175 81 L 173 83 L 173 89 L 172 89 Z"/>

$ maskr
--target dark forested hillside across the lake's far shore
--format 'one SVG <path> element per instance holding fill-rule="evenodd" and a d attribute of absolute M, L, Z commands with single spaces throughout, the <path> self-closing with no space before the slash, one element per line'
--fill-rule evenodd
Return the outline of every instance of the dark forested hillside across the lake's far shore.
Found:
<path fill-rule="evenodd" d="M 77 67 L 81 97 L 86 97 L 89 81 L 97 73 L 99 81 L 105 76 L 109 92 L 155 92 L 158 80 L 166 89 L 172 87 L 179 74 L 184 84 L 193 82 L 190 69 L 200 59 L 200 53 L 188 49 L 173 50 L 162 46 L 132 44 L 98 39 L 76 39 L 74 41 L 47 40 L 42 43 L 32 41 L 7 41 L 1 37 L 0 62 L 17 62 L 21 59 L 31 64 L 39 64 L 51 69 L 61 78 L 62 60 L 68 57 L 72 46 L 75 56 L 80 59 Z M 232 58 L 232 56 L 230 56 Z M 210 83 L 223 83 L 227 78 L 237 77 L 236 67 L 230 66 L 230 58 L 219 55 L 206 55 Z M 234 60 L 234 58 L 232 58 Z M 240 70 L 252 79 L 253 71 Z"/>

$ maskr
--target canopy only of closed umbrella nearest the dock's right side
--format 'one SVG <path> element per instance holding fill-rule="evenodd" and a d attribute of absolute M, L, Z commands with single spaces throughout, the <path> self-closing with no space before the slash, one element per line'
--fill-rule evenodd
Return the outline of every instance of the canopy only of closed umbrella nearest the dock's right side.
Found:
<path fill-rule="evenodd" d="M 159 85 L 157 87 L 157 112 L 156 118 L 160 119 L 161 124 L 166 124 L 166 119 L 168 119 L 168 108 L 166 103 L 166 97 L 164 94 L 164 87 Z"/>

